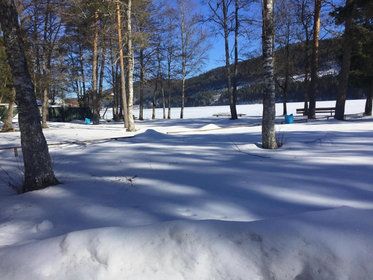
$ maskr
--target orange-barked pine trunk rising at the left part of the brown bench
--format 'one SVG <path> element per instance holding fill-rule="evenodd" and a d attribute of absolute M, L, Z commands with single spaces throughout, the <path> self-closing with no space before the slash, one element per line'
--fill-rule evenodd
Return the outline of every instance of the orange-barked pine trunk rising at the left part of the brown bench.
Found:
<path fill-rule="evenodd" d="M 311 84 L 310 84 L 310 107 L 308 108 L 308 118 L 316 118 L 316 92 L 317 92 L 317 60 L 319 58 L 319 33 L 320 33 L 320 12 L 321 1 L 315 0 L 313 40 L 311 57 Z"/>

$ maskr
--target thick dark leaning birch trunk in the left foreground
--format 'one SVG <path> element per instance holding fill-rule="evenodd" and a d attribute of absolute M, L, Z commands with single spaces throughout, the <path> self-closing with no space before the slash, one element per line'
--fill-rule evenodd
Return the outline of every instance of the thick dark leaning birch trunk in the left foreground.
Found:
<path fill-rule="evenodd" d="M 28 71 L 18 14 L 11 0 L 0 0 L 0 24 L 18 103 L 25 180 L 21 192 L 59 182 L 54 176 L 47 141 L 39 121 L 34 85 Z"/>

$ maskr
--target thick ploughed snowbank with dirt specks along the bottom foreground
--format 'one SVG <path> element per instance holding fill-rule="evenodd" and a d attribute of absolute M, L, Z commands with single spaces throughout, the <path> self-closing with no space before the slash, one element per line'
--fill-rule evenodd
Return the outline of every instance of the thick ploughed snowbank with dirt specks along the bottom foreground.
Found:
<path fill-rule="evenodd" d="M 371 279 L 372 241 L 373 211 L 349 207 L 97 228 L 1 249 L 0 279 Z"/>

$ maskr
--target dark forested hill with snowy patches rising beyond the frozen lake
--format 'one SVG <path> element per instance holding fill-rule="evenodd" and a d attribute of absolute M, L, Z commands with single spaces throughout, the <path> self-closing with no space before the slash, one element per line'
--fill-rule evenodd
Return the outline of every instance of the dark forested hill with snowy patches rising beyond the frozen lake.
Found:
<path fill-rule="evenodd" d="M 340 38 L 320 40 L 319 50 L 319 71 L 323 74 L 329 74 L 329 78 L 320 81 L 322 88 L 320 90 L 328 94 L 328 97 L 321 96 L 320 99 L 335 98 L 334 91 L 336 90 L 336 77 L 333 75 L 338 73 L 341 63 L 341 40 Z M 290 45 L 291 53 L 291 81 L 289 82 L 289 92 L 291 99 L 289 101 L 302 101 L 302 80 L 304 75 L 304 47 L 301 43 Z M 282 49 L 276 50 L 276 68 L 281 69 Z M 231 77 L 233 77 L 233 64 L 231 65 Z M 277 73 L 281 77 L 282 73 Z M 262 95 L 262 87 L 260 85 L 263 77 L 261 57 L 254 57 L 238 63 L 238 103 L 260 102 Z M 164 85 L 166 85 L 166 81 Z M 206 106 L 206 105 L 224 105 L 228 104 L 228 97 L 225 96 L 226 91 L 226 74 L 225 67 L 220 66 L 211 69 L 196 77 L 189 78 L 185 81 L 186 94 L 185 106 Z M 277 86 L 276 86 L 277 87 Z M 144 86 L 144 105 L 151 107 L 153 99 L 154 85 L 147 83 Z M 297 92 L 299 91 L 299 96 Z M 172 106 L 180 106 L 181 103 L 181 83 L 179 80 L 172 82 Z M 167 95 L 167 90 L 165 89 Z M 280 100 L 280 89 L 276 88 L 277 99 Z M 332 96 L 332 97 L 330 97 Z M 139 84 L 134 84 L 135 100 L 140 98 Z M 156 94 L 156 100 L 160 96 Z M 139 104 L 139 100 L 135 105 Z M 167 104 L 167 98 L 166 98 Z M 159 106 L 159 105 L 157 105 Z"/>

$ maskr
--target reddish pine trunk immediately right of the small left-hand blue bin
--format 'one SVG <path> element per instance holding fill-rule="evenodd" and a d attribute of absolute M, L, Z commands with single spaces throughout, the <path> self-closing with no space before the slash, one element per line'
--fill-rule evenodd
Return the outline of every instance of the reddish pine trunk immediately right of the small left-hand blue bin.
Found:
<path fill-rule="evenodd" d="M 98 12 L 94 13 L 94 37 L 93 37 L 93 54 L 92 54 L 92 105 L 93 114 L 92 122 L 94 125 L 100 124 L 98 118 L 98 92 L 97 92 L 97 41 L 98 41 Z"/>

